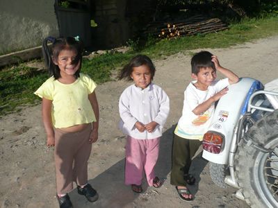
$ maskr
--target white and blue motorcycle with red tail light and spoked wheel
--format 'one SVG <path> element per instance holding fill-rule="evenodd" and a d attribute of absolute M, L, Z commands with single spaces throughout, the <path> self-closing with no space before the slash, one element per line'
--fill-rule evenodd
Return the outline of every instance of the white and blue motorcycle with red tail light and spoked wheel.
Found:
<path fill-rule="evenodd" d="M 203 139 L 202 157 L 219 187 L 235 187 L 251 207 L 278 207 L 278 110 L 253 78 L 220 98 Z"/>

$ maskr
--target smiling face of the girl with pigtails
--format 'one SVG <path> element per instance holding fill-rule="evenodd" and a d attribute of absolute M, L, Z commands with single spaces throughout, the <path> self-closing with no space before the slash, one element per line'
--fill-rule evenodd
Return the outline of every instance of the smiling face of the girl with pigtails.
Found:
<path fill-rule="evenodd" d="M 63 78 L 65 76 L 74 76 L 80 67 L 80 60 L 76 63 L 76 51 L 70 49 L 64 49 L 60 51 L 58 58 L 54 60 L 60 69 L 60 76 Z"/>

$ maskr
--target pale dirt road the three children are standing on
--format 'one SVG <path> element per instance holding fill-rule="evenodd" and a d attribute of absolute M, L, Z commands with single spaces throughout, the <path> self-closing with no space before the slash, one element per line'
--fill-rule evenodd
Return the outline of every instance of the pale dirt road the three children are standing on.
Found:
<path fill-rule="evenodd" d="M 236 189 L 221 189 L 213 184 L 202 149 L 191 169 L 197 177 L 197 184 L 189 187 L 195 200 L 182 202 L 170 185 L 172 131 L 181 116 L 183 91 L 190 82 L 189 54 L 200 50 L 154 60 L 154 83 L 170 97 L 170 115 L 156 165 L 156 175 L 165 180 L 160 189 L 147 187 L 144 181 L 144 193 L 135 194 L 124 185 L 125 137 L 117 129 L 117 102 L 130 83 L 111 81 L 97 87 L 99 140 L 92 148 L 88 175 L 90 184 L 99 192 L 99 200 L 90 203 L 74 189 L 70 193 L 74 207 L 248 207 L 234 196 Z M 278 77 L 278 36 L 228 49 L 206 50 L 218 55 L 220 64 L 240 77 L 256 78 L 263 84 Z M 0 207 L 58 207 L 53 152 L 46 146 L 40 105 L 1 118 Z"/>

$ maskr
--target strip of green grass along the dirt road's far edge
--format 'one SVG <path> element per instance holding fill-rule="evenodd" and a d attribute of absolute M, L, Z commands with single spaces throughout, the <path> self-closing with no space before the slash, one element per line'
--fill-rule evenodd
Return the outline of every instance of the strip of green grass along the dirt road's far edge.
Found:
<path fill-rule="evenodd" d="M 200 48 L 227 48 L 244 42 L 251 42 L 263 37 L 278 35 L 278 15 L 260 19 L 244 19 L 240 23 L 230 24 L 229 29 L 207 35 L 180 37 L 173 40 L 149 41 L 140 51 L 127 53 L 106 53 L 92 60 L 83 59 L 82 72 L 90 75 L 97 83 L 111 80 L 111 72 L 138 53 L 149 55 L 152 59 L 164 58 L 175 53 L 189 53 Z M 26 105 L 40 103 L 35 92 L 48 78 L 47 71 L 37 71 L 22 63 L 6 67 L 0 71 L 0 116 L 17 112 Z"/>

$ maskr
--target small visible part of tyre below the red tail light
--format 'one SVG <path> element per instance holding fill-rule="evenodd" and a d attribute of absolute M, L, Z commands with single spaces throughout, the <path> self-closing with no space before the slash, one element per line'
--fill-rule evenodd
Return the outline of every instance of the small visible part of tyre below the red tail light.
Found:
<path fill-rule="evenodd" d="M 209 162 L 209 173 L 211 175 L 211 180 L 216 185 L 218 185 L 218 187 L 222 187 L 222 188 L 227 187 L 227 185 L 224 182 L 226 171 L 227 171 L 227 165 Z"/>

